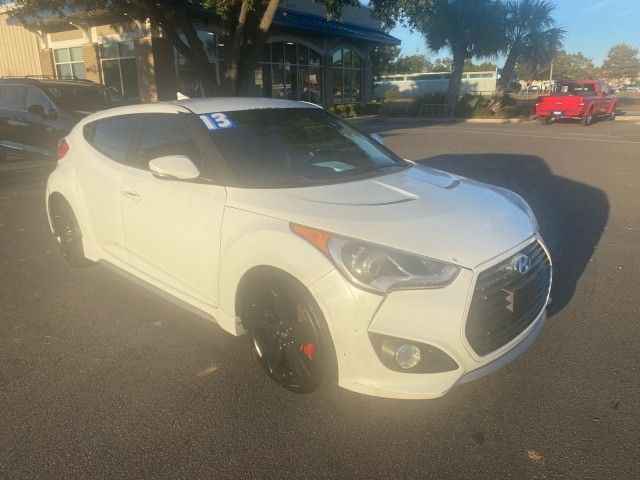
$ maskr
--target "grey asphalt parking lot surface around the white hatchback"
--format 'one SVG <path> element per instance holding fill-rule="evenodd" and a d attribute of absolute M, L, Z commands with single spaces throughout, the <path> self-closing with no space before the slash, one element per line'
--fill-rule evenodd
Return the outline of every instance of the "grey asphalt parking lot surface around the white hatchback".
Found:
<path fill-rule="evenodd" d="M 531 203 L 555 262 L 531 350 L 433 401 L 288 393 L 245 339 L 67 267 L 44 211 L 53 164 L 9 157 L 0 478 L 637 478 L 640 125 L 358 123 Z"/>

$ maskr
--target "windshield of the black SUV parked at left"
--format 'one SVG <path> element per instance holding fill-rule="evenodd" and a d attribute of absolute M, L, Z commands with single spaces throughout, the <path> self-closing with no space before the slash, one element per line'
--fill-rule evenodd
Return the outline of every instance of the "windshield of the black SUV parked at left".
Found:
<path fill-rule="evenodd" d="M 49 85 L 47 91 L 56 105 L 72 112 L 95 112 L 129 103 L 119 93 L 95 85 Z"/>

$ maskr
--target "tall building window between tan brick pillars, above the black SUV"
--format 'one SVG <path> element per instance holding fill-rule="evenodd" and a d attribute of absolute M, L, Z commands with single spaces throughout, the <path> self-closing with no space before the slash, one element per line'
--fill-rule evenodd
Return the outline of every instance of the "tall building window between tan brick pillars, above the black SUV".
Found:
<path fill-rule="evenodd" d="M 126 98 L 138 98 L 138 73 L 133 41 L 100 45 L 102 81 Z"/>

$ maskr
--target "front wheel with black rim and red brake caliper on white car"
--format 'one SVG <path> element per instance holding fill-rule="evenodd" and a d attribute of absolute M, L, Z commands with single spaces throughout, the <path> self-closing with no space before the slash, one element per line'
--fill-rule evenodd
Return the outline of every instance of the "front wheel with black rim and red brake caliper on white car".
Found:
<path fill-rule="evenodd" d="M 277 384 L 310 393 L 334 383 L 336 356 L 324 315 L 293 277 L 273 272 L 252 281 L 241 318 L 258 364 Z"/>

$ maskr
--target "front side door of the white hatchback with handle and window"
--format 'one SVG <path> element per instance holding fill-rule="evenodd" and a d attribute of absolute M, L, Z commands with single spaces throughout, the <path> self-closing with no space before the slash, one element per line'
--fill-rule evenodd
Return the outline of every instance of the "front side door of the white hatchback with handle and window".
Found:
<path fill-rule="evenodd" d="M 149 160 L 186 155 L 200 171 L 204 159 L 178 114 L 143 116 L 133 156 L 122 177 L 122 218 L 131 265 L 210 305 L 218 302 L 220 228 L 226 189 L 204 181 L 161 179 Z"/>

